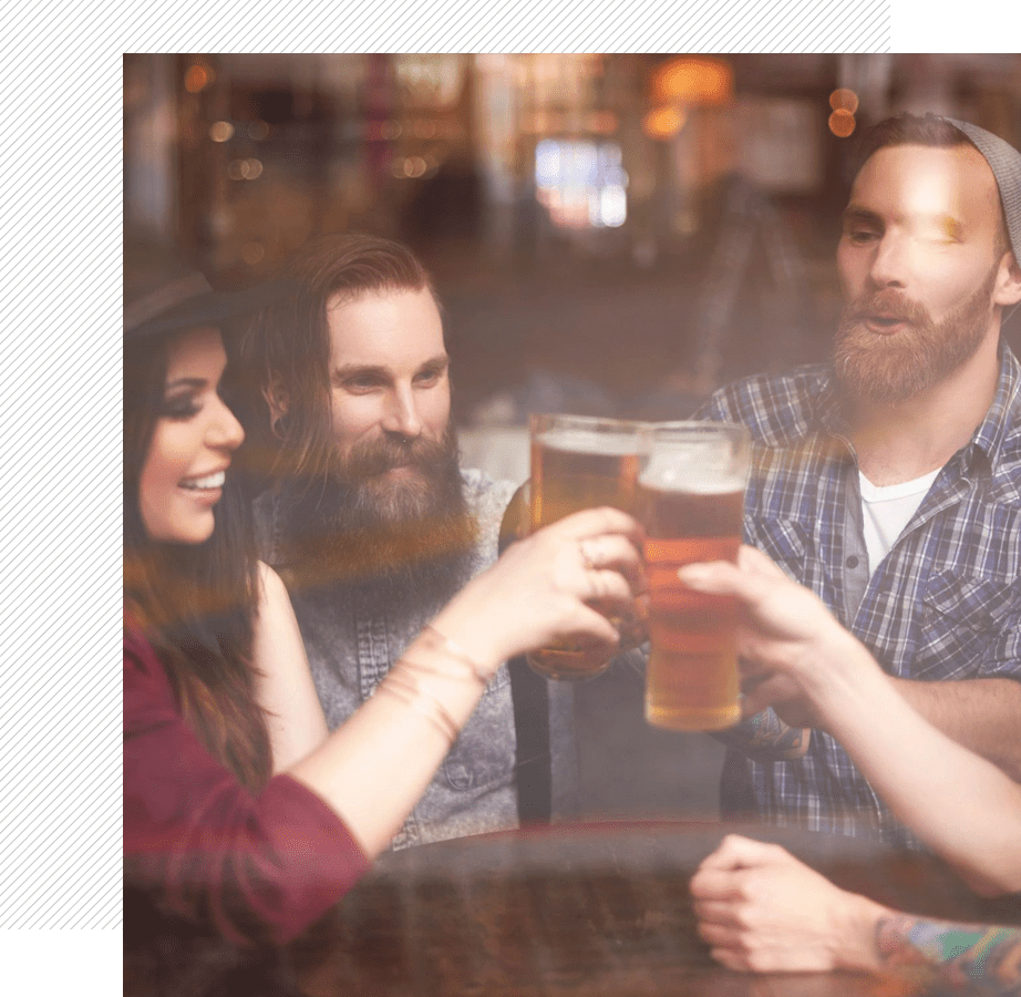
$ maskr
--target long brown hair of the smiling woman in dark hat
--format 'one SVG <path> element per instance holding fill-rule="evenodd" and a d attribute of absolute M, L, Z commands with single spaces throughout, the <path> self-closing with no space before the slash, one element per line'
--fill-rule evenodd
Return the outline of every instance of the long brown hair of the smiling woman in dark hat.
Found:
<path fill-rule="evenodd" d="M 255 698 L 258 562 L 248 502 L 227 475 L 213 536 L 196 546 L 146 534 L 138 481 L 163 407 L 172 337 L 124 343 L 124 599 L 166 669 L 186 721 L 250 791 L 271 771 Z"/>

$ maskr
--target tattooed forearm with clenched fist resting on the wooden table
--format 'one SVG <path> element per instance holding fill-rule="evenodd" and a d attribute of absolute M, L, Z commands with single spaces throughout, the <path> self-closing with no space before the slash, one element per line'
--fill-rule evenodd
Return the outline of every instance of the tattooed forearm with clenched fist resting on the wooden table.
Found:
<path fill-rule="evenodd" d="M 731 969 L 865 969 L 1021 994 L 1021 928 L 900 914 L 839 890 L 778 845 L 738 835 L 691 881 L 699 934 Z"/>

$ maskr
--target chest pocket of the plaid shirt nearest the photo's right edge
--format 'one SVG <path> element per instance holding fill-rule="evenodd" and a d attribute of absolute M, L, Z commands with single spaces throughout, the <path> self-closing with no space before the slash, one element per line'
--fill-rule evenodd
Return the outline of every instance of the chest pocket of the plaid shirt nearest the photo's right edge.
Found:
<path fill-rule="evenodd" d="M 937 572 L 926 584 L 922 604 L 912 678 L 1021 678 L 1021 661 L 997 657 L 997 645 L 1021 628 L 1021 579 Z"/>

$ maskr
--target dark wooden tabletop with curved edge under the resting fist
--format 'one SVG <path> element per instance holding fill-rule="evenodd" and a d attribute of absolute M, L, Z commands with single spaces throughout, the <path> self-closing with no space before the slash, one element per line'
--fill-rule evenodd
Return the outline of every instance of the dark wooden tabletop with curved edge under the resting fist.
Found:
<path fill-rule="evenodd" d="M 1021 921 L 937 860 L 858 839 L 721 824 L 561 825 L 384 855 L 298 946 L 303 987 L 331 997 L 936 993 L 865 975 L 753 976 L 716 965 L 695 934 L 688 882 L 729 830 L 782 844 L 898 909 Z"/>

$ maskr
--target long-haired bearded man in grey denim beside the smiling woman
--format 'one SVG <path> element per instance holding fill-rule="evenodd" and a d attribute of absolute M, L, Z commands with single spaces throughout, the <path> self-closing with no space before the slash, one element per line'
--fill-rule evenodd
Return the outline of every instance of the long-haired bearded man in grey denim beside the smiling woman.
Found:
<path fill-rule="evenodd" d="M 260 312 L 239 357 L 255 470 L 269 481 L 256 524 L 333 729 L 496 559 L 514 485 L 460 466 L 440 304 L 410 250 L 328 236 L 280 279 L 288 295 Z M 393 847 L 516 826 L 523 808 L 570 812 L 569 690 L 517 664 L 489 682 Z"/>

